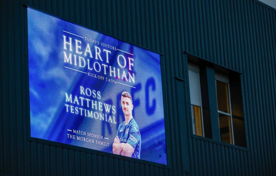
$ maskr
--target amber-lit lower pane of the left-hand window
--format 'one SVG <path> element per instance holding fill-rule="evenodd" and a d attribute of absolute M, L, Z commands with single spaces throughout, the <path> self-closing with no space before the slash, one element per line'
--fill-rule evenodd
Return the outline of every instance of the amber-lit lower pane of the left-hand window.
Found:
<path fill-rule="evenodd" d="M 203 136 L 202 134 L 202 125 L 201 125 L 201 110 L 200 107 L 192 105 L 192 111 L 193 111 L 193 131 L 194 134 Z"/>

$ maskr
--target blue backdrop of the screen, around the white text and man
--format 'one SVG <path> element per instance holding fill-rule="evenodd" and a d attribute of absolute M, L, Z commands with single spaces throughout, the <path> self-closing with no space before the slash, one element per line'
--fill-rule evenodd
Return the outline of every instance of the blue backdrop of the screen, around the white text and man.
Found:
<path fill-rule="evenodd" d="M 120 50 L 134 54 L 134 56 L 118 50 L 113 51 L 101 45 L 95 45 L 85 41 L 85 39 L 65 33 L 63 30 L 115 46 Z M 80 68 L 64 62 L 63 35 L 67 36 L 67 40 L 69 40 L 69 37 L 72 38 L 72 41 L 74 39 L 81 40 L 81 51 L 83 52 L 87 43 L 89 43 L 93 57 L 95 57 L 95 51 L 92 49 L 94 46 L 101 48 L 102 56 L 105 56 L 103 49 L 111 51 L 109 57 L 109 66 L 111 67 L 120 68 L 116 61 L 119 54 L 126 58 L 133 58 L 134 67 L 132 71 L 135 73 L 135 83 L 124 82 L 119 79 L 117 81 L 136 87 L 136 89 L 98 80 L 81 72 L 65 68 L 64 66 L 68 66 L 84 72 L 89 71 L 86 67 Z M 74 47 L 73 45 L 73 51 L 75 51 Z M 125 120 L 121 108 L 121 93 L 128 91 L 133 99 L 134 109 L 132 114 L 140 128 L 140 159 L 167 164 L 160 56 L 158 54 L 31 8 L 28 8 L 28 53 L 31 137 L 112 153 L 112 144 L 118 126 Z M 67 54 L 70 54 L 70 52 L 68 51 Z M 83 55 L 80 56 L 85 58 Z M 94 63 L 94 59 L 89 59 L 92 60 L 91 63 Z M 89 72 L 95 73 L 94 70 Z M 109 72 L 109 69 L 107 69 L 107 72 Z M 103 71 L 96 74 L 111 78 L 104 75 Z M 79 96 L 80 85 L 91 90 L 100 90 L 101 99 L 98 101 L 116 106 L 117 124 L 66 112 L 65 104 L 68 103 L 66 102 L 65 93 L 72 94 L 72 97 L 74 95 Z M 96 100 L 91 97 L 90 99 Z M 110 115 L 112 114 L 110 113 Z M 73 133 L 67 131 L 67 129 L 77 129 L 103 135 L 109 138 L 103 140 L 109 142 L 109 146 L 68 139 L 67 134 Z"/>

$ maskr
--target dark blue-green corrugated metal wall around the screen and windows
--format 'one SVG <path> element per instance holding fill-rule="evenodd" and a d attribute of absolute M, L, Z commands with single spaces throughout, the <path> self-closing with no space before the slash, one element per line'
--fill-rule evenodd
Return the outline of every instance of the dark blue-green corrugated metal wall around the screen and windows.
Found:
<path fill-rule="evenodd" d="M 162 53 L 170 169 L 27 140 L 26 8 L 74 21 Z M 175 77 L 189 52 L 243 73 L 248 151 L 189 139 L 191 175 L 276 174 L 276 11 L 253 0 L 1 1 L 0 173 L 185 175 Z M 187 83 L 185 82 L 185 86 Z M 186 87 L 186 90 L 189 90 Z M 185 101 L 189 94 L 185 91 Z M 186 104 L 187 110 L 189 104 Z M 189 174 L 187 174 L 189 175 Z"/>

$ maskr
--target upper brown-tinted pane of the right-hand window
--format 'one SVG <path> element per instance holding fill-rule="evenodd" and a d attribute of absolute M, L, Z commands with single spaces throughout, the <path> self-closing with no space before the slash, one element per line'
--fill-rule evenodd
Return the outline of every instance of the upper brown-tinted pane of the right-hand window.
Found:
<path fill-rule="evenodd" d="M 228 84 L 216 80 L 218 110 L 230 114 Z"/>

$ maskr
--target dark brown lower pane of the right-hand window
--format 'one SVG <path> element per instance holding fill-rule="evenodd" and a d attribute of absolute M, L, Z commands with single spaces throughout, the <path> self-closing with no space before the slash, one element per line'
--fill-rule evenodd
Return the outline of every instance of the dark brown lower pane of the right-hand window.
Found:
<path fill-rule="evenodd" d="M 219 114 L 220 140 L 233 144 L 231 118 L 227 115 Z"/>

